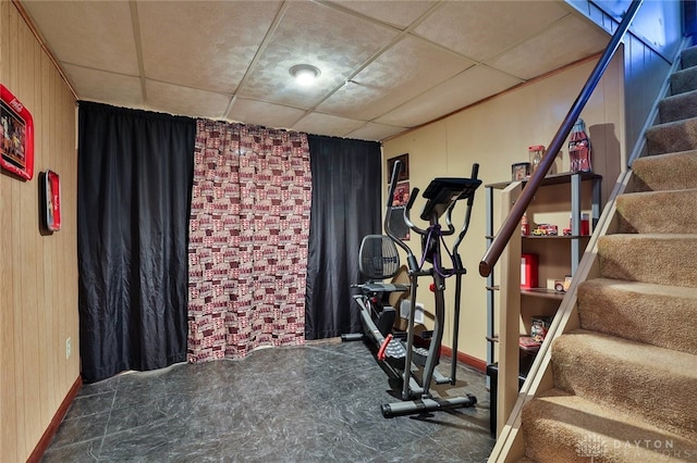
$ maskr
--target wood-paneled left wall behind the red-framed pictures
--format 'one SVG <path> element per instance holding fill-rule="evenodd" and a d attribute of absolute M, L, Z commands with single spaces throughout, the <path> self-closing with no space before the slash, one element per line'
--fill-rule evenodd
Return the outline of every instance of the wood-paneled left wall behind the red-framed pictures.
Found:
<path fill-rule="evenodd" d="M 0 14 L 0 82 L 35 125 L 34 178 L 0 174 L 0 454 L 23 462 L 80 376 L 76 118 L 73 93 L 16 7 L 3 0 Z M 38 173 L 48 168 L 61 179 L 62 228 L 41 235 Z"/>

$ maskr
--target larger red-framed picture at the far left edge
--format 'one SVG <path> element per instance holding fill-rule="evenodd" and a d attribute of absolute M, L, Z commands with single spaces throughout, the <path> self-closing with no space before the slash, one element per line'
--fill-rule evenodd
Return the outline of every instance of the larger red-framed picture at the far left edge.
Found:
<path fill-rule="evenodd" d="M 29 111 L 0 84 L 0 166 L 26 180 L 34 176 L 34 121 Z"/>

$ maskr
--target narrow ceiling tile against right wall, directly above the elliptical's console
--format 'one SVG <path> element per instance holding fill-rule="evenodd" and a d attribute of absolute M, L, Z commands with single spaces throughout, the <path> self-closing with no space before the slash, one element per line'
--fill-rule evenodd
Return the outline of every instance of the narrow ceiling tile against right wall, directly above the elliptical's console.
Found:
<path fill-rule="evenodd" d="M 479 64 L 419 95 L 375 122 L 415 127 L 521 83 L 523 80 Z"/>

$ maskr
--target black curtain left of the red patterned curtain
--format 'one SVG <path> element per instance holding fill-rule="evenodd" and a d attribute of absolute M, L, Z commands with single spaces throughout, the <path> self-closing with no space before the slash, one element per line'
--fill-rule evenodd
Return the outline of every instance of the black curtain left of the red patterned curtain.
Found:
<path fill-rule="evenodd" d="M 81 102 L 77 252 L 82 376 L 186 360 L 196 121 Z"/>

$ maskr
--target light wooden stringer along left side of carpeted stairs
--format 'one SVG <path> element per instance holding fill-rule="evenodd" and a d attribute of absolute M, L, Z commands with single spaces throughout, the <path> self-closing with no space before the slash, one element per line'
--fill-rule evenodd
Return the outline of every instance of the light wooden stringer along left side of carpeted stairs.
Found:
<path fill-rule="evenodd" d="M 489 455 L 489 463 L 517 462 L 525 458 L 525 441 L 522 427 L 523 406 L 554 387 L 551 368 L 552 342 L 560 336 L 580 327 L 576 304 L 578 285 L 587 279 L 600 277 L 598 239 L 603 235 L 613 234 L 619 230 L 620 225 L 615 205 L 616 198 L 620 195 L 634 192 L 635 190 L 633 172 L 625 171 L 621 173 L 606 203 L 603 212 L 598 220 L 598 225 L 594 230 L 586 251 L 582 256 L 572 285 L 557 311 L 557 316 L 545 337 L 545 342 L 542 342 L 527 379 L 521 388 L 513 411 L 497 438 L 497 443 Z"/>

